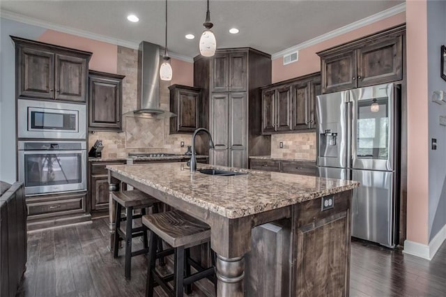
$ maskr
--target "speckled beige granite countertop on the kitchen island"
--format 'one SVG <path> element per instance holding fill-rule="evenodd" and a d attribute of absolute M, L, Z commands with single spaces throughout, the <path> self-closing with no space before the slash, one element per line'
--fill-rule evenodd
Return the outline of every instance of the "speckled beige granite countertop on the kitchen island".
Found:
<path fill-rule="evenodd" d="M 229 169 L 199 164 L 199 169 L 206 168 Z M 178 162 L 109 165 L 107 169 L 226 218 L 242 218 L 360 185 L 356 181 L 240 168 L 231 170 L 247 174 L 212 176 L 191 173 Z"/>

